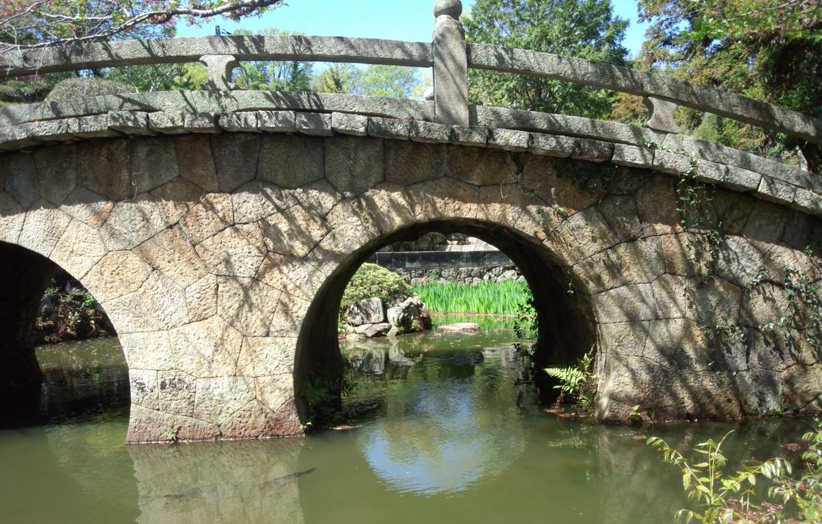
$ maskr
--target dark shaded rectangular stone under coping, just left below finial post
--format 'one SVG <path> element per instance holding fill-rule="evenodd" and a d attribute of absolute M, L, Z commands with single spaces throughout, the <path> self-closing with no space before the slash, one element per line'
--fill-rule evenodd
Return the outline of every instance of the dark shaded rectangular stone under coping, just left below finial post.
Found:
<path fill-rule="evenodd" d="M 448 152 L 445 145 L 386 140 L 386 181 L 410 186 L 445 177 Z"/>

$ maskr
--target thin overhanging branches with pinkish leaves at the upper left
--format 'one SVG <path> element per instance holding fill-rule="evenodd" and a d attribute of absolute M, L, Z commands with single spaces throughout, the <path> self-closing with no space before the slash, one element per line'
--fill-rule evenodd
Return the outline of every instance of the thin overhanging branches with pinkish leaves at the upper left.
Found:
<path fill-rule="evenodd" d="M 180 21 L 261 15 L 283 0 L 7 0 L 0 52 L 174 34 Z"/>

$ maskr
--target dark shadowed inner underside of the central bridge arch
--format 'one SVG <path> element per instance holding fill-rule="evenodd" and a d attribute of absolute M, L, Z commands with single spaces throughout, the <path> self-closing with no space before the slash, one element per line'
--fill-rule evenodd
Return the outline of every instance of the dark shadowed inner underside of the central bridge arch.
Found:
<path fill-rule="evenodd" d="M 341 407 L 344 362 L 339 349 L 339 305 L 345 288 L 369 256 L 384 246 L 414 241 L 427 233 L 463 233 L 496 246 L 520 269 L 533 294 L 538 338 L 532 362 L 570 365 L 588 352 L 596 340 L 593 307 L 589 296 L 575 292 L 574 277 L 543 244 L 498 223 L 470 218 L 449 218 L 414 223 L 378 237 L 339 264 L 326 278 L 307 310 L 298 338 L 294 364 L 294 391 L 301 420 L 307 420 L 306 384 L 321 376 L 335 408 Z"/>

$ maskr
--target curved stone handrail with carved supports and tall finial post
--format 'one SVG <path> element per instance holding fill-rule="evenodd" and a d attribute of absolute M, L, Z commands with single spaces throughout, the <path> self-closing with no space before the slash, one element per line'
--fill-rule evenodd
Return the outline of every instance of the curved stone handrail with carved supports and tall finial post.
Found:
<path fill-rule="evenodd" d="M 232 71 L 244 61 L 309 61 L 433 68 L 436 122 L 471 125 L 468 69 L 503 71 L 563 80 L 644 97 L 650 118 L 644 125 L 679 131 L 678 106 L 715 113 L 822 145 L 822 120 L 738 94 L 692 85 L 628 67 L 525 49 L 467 44 L 459 23 L 459 0 L 438 0 L 432 43 L 326 36 L 214 36 L 126 40 L 68 48 L 39 48 L 0 57 L 0 77 L 81 71 L 102 67 L 202 62 L 211 90 L 233 89 Z"/>

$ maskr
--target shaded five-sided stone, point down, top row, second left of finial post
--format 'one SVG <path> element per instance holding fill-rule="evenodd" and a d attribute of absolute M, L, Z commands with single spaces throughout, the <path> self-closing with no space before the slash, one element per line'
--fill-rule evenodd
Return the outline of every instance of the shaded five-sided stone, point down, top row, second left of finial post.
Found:
<path fill-rule="evenodd" d="M 344 197 L 363 194 L 384 180 L 382 140 L 338 136 L 326 140 L 326 177 Z"/>

